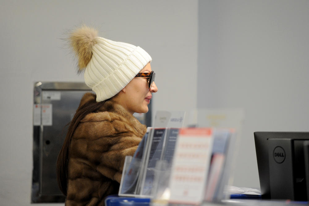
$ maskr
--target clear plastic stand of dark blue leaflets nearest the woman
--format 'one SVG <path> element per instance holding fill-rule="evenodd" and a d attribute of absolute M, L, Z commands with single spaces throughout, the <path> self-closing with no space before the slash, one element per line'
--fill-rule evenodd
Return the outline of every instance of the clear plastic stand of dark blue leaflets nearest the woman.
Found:
<path fill-rule="evenodd" d="M 119 196 L 151 198 L 157 162 L 171 164 L 178 128 L 148 128 L 133 157 L 126 156 Z M 166 170 L 166 169 L 165 169 Z"/>

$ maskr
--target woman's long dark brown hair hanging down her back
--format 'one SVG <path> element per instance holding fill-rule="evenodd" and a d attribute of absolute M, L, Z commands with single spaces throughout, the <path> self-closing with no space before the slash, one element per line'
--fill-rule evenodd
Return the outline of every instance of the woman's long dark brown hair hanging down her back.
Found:
<path fill-rule="evenodd" d="M 95 96 L 95 94 L 92 94 L 92 95 Z M 57 159 L 57 166 L 56 166 L 58 186 L 64 195 L 67 195 L 68 155 L 69 155 L 70 142 L 71 142 L 73 133 L 75 129 L 77 128 L 79 122 L 87 114 L 96 112 L 108 100 L 109 99 L 104 100 L 103 102 L 96 102 L 94 98 L 94 99 L 91 99 L 91 101 L 88 101 L 87 103 L 83 105 L 79 105 L 72 121 L 70 121 L 70 123 L 68 124 L 69 129 L 66 134 L 66 138 L 63 142 L 62 148 L 59 152 L 58 159 Z"/>

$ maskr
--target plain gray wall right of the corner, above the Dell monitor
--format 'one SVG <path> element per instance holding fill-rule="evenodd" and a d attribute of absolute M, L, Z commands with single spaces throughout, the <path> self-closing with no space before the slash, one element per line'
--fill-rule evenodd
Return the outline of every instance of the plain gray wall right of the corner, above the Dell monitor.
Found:
<path fill-rule="evenodd" d="M 235 186 L 259 187 L 254 131 L 308 131 L 309 1 L 198 7 L 198 108 L 243 108 Z"/>

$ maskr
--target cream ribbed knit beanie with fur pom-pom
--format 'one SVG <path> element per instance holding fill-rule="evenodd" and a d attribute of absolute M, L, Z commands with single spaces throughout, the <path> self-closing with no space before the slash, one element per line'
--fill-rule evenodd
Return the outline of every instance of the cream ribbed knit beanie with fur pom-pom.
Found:
<path fill-rule="evenodd" d="M 116 95 L 151 62 L 141 47 L 97 37 L 94 28 L 84 25 L 71 33 L 70 43 L 78 56 L 78 73 L 84 71 L 97 102 Z"/>

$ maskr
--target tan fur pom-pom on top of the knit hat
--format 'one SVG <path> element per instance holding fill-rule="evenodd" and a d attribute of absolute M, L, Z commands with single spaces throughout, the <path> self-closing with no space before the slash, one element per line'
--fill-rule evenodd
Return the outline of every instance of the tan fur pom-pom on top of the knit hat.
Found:
<path fill-rule="evenodd" d="M 78 57 L 78 73 L 82 72 L 92 57 L 92 46 L 98 31 L 82 25 L 70 34 L 70 45 Z"/>

